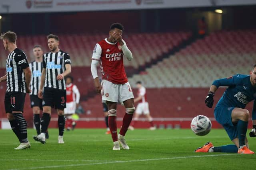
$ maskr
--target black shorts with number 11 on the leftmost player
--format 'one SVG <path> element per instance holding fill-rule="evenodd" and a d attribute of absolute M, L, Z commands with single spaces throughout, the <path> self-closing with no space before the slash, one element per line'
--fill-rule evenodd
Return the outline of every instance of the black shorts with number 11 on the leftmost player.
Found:
<path fill-rule="evenodd" d="M 23 92 L 6 92 L 4 96 L 5 113 L 12 111 L 22 111 L 24 108 L 26 93 Z"/>

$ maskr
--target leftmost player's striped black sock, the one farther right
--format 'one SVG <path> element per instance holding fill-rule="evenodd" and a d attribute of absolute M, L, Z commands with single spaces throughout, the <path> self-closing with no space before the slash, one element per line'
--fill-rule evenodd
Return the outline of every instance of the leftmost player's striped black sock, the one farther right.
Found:
<path fill-rule="evenodd" d="M 27 122 L 25 118 L 23 117 L 22 113 L 13 113 L 12 114 L 19 126 L 20 130 L 20 142 L 21 143 L 27 143 L 28 142 L 28 133 L 27 133 Z"/>

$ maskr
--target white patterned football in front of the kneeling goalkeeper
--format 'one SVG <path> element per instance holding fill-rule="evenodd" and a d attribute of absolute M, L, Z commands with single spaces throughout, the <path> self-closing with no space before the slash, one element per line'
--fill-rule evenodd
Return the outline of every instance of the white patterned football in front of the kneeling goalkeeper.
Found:
<path fill-rule="evenodd" d="M 212 128 L 212 122 L 204 115 L 198 115 L 191 121 L 190 127 L 194 134 L 198 136 L 207 135 Z"/>

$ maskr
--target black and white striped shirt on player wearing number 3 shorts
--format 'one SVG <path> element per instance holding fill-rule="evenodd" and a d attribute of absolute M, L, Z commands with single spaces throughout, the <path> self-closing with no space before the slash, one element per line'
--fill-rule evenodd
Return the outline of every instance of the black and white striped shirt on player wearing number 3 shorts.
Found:
<path fill-rule="evenodd" d="M 45 68 L 44 87 L 66 90 L 65 79 L 57 80 L 58 74 L 62 74 L 66 68 L 65 64 L 71 64 L 70 56 L 64 51 L 57 53 L 46 53 L 43 56 L 43 68 Z"/>

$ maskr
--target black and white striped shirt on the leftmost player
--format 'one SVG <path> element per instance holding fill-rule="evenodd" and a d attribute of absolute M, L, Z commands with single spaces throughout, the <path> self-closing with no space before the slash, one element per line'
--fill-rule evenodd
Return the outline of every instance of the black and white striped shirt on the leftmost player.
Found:
<path fill-rule="evenodd" d="M 6 60 L 7 89 L 6 92 L 26 93 L 25 74 L 23 69 L 28 67 L 26 54 L 21 49 L 16 48 Z"/>

